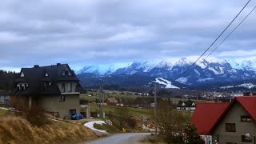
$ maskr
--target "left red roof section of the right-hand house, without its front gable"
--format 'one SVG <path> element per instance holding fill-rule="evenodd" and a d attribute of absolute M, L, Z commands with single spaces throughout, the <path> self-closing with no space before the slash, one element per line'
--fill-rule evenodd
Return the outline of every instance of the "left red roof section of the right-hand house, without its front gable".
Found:
<path fill-rule="evenodd" d="M 197 128 L 198 134 L 210 134 L 228 106 L 229 103 L 198 103 L 190 123 Z"/>

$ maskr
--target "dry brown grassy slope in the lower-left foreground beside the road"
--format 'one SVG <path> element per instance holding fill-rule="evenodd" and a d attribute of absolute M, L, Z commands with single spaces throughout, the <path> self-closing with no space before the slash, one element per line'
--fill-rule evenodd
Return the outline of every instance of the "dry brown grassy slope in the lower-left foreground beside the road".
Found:
<path fill-rule="evenodd" d="M 25 119 L 0 110 L 0 143 L 78 143 L 98 138 L 90 129 L 68 122 L 31 126 Z"/>

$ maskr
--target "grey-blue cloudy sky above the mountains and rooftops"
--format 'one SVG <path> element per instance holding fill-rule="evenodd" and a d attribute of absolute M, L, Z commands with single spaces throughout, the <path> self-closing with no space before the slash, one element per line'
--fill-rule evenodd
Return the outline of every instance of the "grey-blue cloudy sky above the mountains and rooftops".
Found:
<path fill-rule="evenodd" d="M 4 0 L 0 5 L 0 69 L 61 62 L 78 70 L 94 63 L 196 56 L 246 2 Z M 250 2 L 228 32 L 255 5 Z M 255 13 L 212 56 L 256 56 Z"/>

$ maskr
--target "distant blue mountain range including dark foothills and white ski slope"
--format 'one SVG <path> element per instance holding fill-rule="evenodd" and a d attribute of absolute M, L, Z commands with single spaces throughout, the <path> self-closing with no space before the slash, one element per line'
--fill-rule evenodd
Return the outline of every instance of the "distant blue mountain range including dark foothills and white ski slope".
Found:
<path fill-rule="evenodd" d="M 102 79 L 106 83 L 118 82 L 118 78 L 143 79 L 141 86 L 150 86 L 157 82 L 162 87 L 180 88 L 186 86 L 220 86 L 241 82 L 255 82 L 256 58 L 221 59 L 210 57 L 199 60 L 192 69 L 178 78 L 193 62 L 194 57 L 150 60 L 145 62 L 114 63 L 108 65 L 86 65 L 77 72 L 78 78 L 88 78 L 93 74 L 94 81 Z M 134 76 L 133 76 L 134 75 Z M 176 82 L 174 79 L 178 78 Z M 107 80 L 106 80 L 107 79 Z M 88 79 L 86 79 L 88 81 Z M 88 82 L 92 82 L 91 79 Z M 89 84 L 86 82 L 86 84 Z M 123 80 L 124 83 L 127 83 Z M 134 81 L 135 82 L 135 81 Z M 174 83 L 174 86 L 171 82 Z M 239 83 L 240 82 L 240 83 Z M 138 82 L 137 82 L 138 83 Z M 180 84 L 178 84 L 180 83 Z M 130 82 L 130 84 L 135 84 Z M 175 84 L 177 85 L 175 87 Z"/>

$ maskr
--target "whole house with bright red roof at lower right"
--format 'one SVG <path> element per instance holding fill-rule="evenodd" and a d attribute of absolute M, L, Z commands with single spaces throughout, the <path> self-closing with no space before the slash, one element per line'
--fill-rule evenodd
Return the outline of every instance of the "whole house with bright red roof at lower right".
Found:
<path fill-rule="evenodd" d="M 197 133 L 219 144 L 256 143 L 256 96 L 230 103 L 198 103 L 191 118 Z"/>

